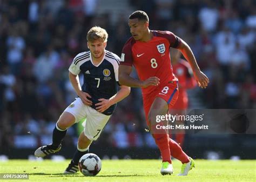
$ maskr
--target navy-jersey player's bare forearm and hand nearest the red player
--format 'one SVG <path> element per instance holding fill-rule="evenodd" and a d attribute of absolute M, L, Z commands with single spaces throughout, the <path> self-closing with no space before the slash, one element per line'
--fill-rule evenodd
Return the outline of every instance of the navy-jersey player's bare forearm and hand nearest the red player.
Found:
<path fill-rule="evenodd" d="M 98 112 L 104 112 L 111 105 L 116 104 L 123 100 L 125 97 L 129 96 L 131 92 L 131 87 L 129 86 L 120 86 L 120 90 L 116 93 L 116 95 L 112 96 L 110 99 L 98 99 L 99 103 L 95 104 L 96 110 Z"/>

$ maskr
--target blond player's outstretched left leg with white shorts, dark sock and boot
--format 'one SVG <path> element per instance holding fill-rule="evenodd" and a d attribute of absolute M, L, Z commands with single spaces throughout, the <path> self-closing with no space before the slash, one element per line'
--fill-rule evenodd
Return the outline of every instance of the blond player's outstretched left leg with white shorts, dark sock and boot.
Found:
<path fill-rule="evenodd" d="M 61 149 L 61 143 L 65 137 L 66 131 L 74 123 L 79 122 L 80 119 L 85 117 L 83 112 L 84 104 L 80 98 L 77 98 L 75 102 L 71 103 L 64 112 L 60 115 L 55 129 L 52 132 L 52 144 L 39 147 L 35 151 L 36 157 L 45 157 L 51 153 L 56 153 Z"/>

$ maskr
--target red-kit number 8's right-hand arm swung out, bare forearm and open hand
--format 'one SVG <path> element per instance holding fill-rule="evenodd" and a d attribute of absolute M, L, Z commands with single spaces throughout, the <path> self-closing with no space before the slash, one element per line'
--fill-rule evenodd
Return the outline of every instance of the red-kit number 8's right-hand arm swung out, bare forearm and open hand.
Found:
<path fill-rule="evenodd" d="M 203 72 L 201 72 L 197 64 L 197 60 L 194 57 L 192 50 L 190 49 L 190 46 L 188 46 L 187 43 L 184 42 L 182 39 L 180 40 L 181 42 L 177 49 L 181 51 L 183 56 L 187 59 L 188 63 L 190 63 L 194 77 L 197 80 L 198 86 L 200 86 L 201 88 L 206 88 L 206 86 L 209 83 L 209 79 Z"/>

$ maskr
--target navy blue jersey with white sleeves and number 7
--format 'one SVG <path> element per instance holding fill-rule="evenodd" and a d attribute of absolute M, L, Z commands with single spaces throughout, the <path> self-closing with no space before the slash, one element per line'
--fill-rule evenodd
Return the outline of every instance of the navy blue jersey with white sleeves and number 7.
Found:
<path fill-rule="evenodd" d="M 99 103 L 98 99 L 109 99 L 117 93 L 119 62 L 120 58 L 107 50 L 105 50 L 102 62 L 97 66 L 92 62 L 90 51 L 81 52 L 73 59 L 69 71 L 73 75 L 83 73 L 82 90 L 92 97 L 91 107 L 93 109 L 96 109 L 95 104 Z M 110 106 L 103 114 L 111 115 L 115 107 L 116 104 Z"/>

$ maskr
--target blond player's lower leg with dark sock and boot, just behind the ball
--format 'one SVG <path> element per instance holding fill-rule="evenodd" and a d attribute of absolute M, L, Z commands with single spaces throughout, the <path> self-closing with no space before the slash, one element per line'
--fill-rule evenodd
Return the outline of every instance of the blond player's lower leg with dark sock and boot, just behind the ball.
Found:
<path fill-rule="evenodd" d="M 78 141 L 77 141 L 77 150 L 75 154 L 73 155 L 73 158 L 69 164 L 69 166 L 64 171 L 65 174 L 72 174 L 76 173 L 78 169 L 78 161 L 79 159 L 86 153 L 89 152 L 89 146 L 91 144 L 92 140 L 89 140 L 85 134 L 84 131 L 80 133 Z"/>

